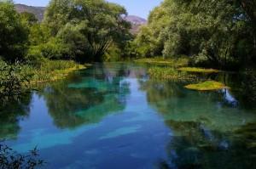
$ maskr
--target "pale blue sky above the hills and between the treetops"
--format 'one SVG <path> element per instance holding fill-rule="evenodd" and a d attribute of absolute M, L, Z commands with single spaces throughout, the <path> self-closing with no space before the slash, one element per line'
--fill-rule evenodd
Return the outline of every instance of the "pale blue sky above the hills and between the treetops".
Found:
<path fill-rule="evenodd" d="M 108 0 L 109 2 L 119 3 L 124 6 L 130 15 L 137 15 L 148 18 L 149 12 L 160 4 L 162 0 Z M 15 0 L 15 3 L 22 3 L 30 6 L 45 7 L 49 0 Z"/>

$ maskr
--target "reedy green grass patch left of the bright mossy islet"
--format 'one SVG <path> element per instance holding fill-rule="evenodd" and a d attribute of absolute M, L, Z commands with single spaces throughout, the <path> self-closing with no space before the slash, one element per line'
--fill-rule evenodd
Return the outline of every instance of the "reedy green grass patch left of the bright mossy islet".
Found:
<path fill-rule="evenodd" d="M 195 81 L 197 77 L 187 72 L 177 71 L 172 67 L 153 67 L 148 69 L 148 75 L 153 79 L 171 80 L 174 82 Z"/>

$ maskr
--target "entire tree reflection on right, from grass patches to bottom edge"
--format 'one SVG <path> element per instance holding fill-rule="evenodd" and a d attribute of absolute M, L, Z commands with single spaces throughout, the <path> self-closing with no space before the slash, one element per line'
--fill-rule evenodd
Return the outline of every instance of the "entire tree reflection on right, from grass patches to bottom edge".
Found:
<path fill-rule="evenodd" d="M 150 80 L 141 85 L 172 130 L 159 168 L 256 168 L 254 112 L 232 91 L 201 93 Z"/>

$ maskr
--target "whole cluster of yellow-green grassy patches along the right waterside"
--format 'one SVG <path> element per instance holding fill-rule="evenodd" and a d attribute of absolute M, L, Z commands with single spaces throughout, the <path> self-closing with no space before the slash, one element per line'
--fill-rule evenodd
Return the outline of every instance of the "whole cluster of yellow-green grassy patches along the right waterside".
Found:
<path fill-rule="evenodd" d="M 137 59 L 136 63 L 148 64 L 148 75 L 154 80 L 191 83 L 184 86 L 187 89 L 199 91 L 220 90 L 226 87 L 222 82 L 215 82 L 213 79 L 201 74 L 218 74 L 224 72 L 216 69 L 189 67 L 189 59 Z"/>

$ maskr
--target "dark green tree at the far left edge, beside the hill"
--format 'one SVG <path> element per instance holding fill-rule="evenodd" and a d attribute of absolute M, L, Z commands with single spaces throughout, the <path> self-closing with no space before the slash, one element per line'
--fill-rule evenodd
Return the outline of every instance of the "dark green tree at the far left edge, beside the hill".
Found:
<path fill-rule="evenodd" d="M 28 28 L 10 1 L 0 1 L 0 56 L 14 62 L 26 54 Z"/>

